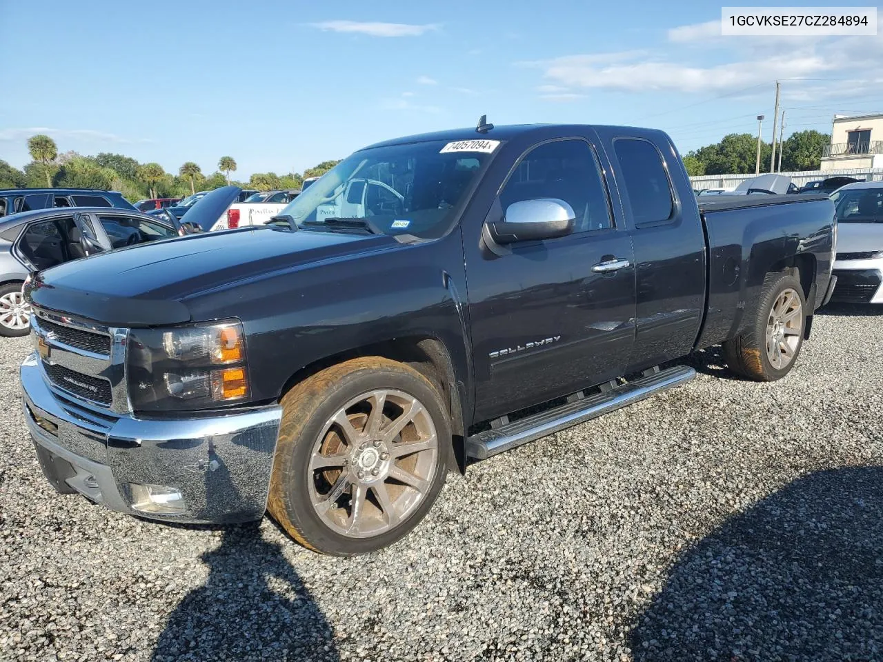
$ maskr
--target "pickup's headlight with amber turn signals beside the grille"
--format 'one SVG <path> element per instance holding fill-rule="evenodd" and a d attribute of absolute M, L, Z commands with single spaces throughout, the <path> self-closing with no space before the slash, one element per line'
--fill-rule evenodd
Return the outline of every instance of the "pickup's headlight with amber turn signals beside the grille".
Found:
<path fill-rule="evenodd" d="M 126 360 L 135 410 L 204 409 L 249 395 L 245 335 L 238 321 L 134 328 Z"/>

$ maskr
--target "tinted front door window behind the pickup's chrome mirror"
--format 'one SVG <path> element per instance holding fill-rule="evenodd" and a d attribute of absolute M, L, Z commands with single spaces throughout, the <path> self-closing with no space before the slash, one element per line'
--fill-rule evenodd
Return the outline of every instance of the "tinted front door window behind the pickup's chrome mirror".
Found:
<path fill-rule="evenodd" d="M 574 232 L 613 227 L 600 167 L 585 140 L 555 140 L 534 147 L 500 193 L 504 212 L 513 202 L 538 198 L 562 199 L 573 207 Z"/>

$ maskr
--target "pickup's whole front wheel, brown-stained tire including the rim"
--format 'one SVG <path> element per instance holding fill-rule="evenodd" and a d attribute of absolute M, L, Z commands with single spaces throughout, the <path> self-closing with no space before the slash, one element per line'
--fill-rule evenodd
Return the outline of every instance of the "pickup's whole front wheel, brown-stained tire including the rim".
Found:
<path fill-rule="evenodd" d="M 444 485 L 452 447 L 443 402 L 419 372 L 381 357 L 298 383 L 281 401 L 270 515 L 301 545 L 336 556 L 403 538 Z"/>

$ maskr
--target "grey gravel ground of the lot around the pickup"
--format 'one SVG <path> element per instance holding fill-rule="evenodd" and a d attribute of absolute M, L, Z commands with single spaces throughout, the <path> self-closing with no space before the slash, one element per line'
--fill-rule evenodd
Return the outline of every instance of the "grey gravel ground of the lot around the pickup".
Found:
<path fill-rule="evenodd" d="M 813 331 L 786 380 L 692 357 L 691 384 L 452 476 L 352 560 L 57 495 L 4 340 L 0 658 L 883 658 L 883 311 Z"/>

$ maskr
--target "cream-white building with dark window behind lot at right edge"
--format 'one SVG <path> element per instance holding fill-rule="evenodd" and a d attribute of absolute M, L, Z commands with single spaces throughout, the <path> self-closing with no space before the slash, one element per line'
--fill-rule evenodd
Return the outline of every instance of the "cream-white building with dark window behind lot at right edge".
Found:
<path fill-rule="evenodd" d="M 883 113 L 834 116 L 831 144 L 822 153 L 822 170 L 883 168 Z"/>

